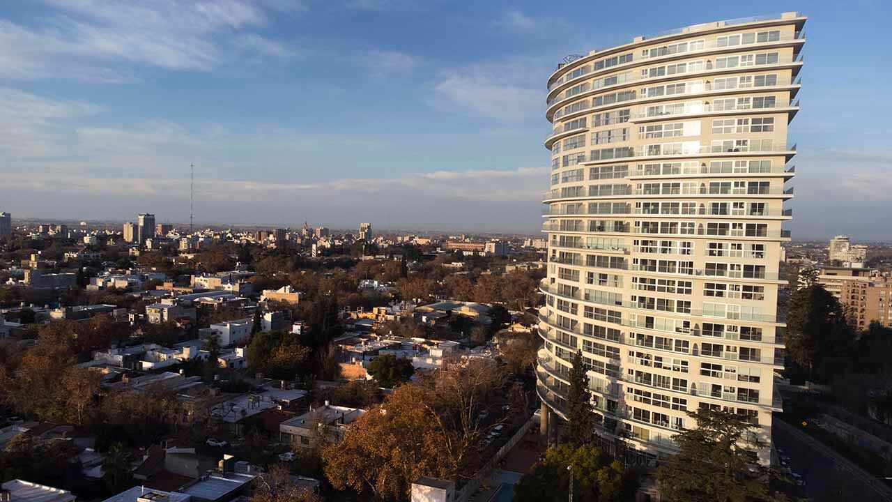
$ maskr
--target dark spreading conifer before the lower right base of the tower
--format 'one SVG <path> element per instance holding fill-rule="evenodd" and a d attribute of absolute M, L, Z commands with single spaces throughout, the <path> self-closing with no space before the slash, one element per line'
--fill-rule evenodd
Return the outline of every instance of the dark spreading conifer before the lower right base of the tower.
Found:
<path fill-rule="evenodd" d="M 660 493 L 672 502 L 756 502 L 785 498 L 769 487 L 770 471 L 758 463 L 751 433 L 756 425 L 730 411 L 688 412 L 697 428 L 675 436 L 679 453 L 657 469 Z"/>

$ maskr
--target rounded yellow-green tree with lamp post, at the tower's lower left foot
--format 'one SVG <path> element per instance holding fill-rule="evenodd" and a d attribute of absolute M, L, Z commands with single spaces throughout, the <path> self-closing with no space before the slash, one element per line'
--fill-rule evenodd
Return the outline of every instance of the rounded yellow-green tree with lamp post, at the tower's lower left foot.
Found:
<path fill-rule="evenodd" d="M 570 469 L 568 469 L 568 467 Z M 592 445 L 560 444 L 514 486 L 516 502 L 564 502 L 573 473 L 574 500 L 612 502 L 631 500 L 635 476 L 623 464 Z"/>

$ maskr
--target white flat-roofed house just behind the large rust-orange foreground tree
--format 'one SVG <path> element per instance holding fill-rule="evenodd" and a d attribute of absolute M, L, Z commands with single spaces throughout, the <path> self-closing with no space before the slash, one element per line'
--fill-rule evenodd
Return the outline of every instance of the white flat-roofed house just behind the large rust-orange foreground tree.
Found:
<path fill-rule="evenodd" d="M 279 424 L 280 438 L 295 448 L 312 448 L 319 435 L 336 442 L 351 423 L 366 413 L 360 408 L 332 406 L 326 401 L 325 406 L 310 408 L 309 412 Z"/>

